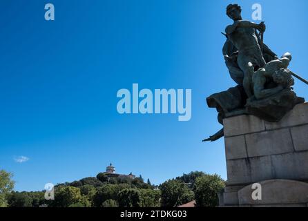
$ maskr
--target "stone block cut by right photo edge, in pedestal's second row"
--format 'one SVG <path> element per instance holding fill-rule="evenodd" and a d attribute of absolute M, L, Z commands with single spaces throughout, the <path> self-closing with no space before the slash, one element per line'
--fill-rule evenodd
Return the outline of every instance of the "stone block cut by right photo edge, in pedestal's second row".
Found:
<path fill-rule="evenodd" d="M 308 124 L 291 128 L 296 151 L 308 151 Z"/>

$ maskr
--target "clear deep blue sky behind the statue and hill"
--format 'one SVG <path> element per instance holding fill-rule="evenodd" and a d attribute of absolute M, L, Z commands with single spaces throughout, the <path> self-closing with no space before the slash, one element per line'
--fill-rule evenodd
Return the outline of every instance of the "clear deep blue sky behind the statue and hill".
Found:
<path fill-rule="evenodd" d="M 54 3 L 55 21 L 44 20 L 45 3 Z M 201 140 L 221 128 L 206 96 L 235 85 L 221 52 L 229 3 L 2 0 L 0 169 L 15 174 L 15 189 L 95 176 L 110 162 L 155 184 L 190 171 L 226 179 L 224 140 Z M 251 20 L 256 1 L 237 3 Z M 258 3 L 264 41 L 291 52 L 291 70 L 308 78 L 308 1 Z M 191 88 L 191 120 L 119 115 L 117 90 L 133 83 Z M 296 80 L 295 90 L 308 98 L 307 85 Z"/>

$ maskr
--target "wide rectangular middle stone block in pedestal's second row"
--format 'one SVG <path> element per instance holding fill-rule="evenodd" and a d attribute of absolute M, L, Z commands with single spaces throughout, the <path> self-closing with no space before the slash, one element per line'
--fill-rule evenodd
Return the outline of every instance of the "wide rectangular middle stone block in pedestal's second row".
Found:
<path fill-rule="evenodd" d="M 293 152 L 291 134 L 288 128 L 264 131 L 246 136 L 249 157 Z"/>

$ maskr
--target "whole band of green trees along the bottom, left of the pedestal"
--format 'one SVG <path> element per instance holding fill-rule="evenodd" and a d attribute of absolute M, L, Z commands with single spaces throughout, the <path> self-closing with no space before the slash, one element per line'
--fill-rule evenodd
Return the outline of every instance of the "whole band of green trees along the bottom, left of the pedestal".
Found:
<path fill-rule="evenodd" d="M 224 181 L 203 172 L 183 174 L 153 186 L 150 180 L 99 173 L 55 186 L 55 200 L 45 200 L 44 191 L 12 191 L 10 173 L 0 173 L 0 206 L 11 207 L 159 207 L 179 206 L 196 200 L 196 206 L 216 206 Z M 157 188 L 158 187 L 158 188 Z"/>

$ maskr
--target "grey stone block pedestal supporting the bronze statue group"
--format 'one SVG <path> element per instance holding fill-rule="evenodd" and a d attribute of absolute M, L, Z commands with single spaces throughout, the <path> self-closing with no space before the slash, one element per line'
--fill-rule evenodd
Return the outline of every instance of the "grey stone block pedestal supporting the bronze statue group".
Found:
<path fill-rule="evenodd" d="M 220 206 L 308 206 L 308 103 L 275 123 L 225 118 L 224 142 L 228 179 Z M 262 200 L 252 199 L 254 183 Z"/>

